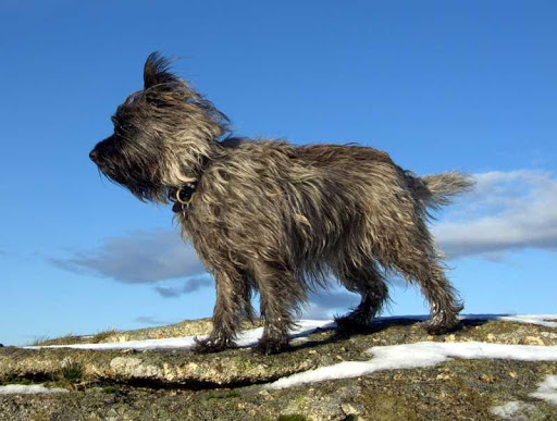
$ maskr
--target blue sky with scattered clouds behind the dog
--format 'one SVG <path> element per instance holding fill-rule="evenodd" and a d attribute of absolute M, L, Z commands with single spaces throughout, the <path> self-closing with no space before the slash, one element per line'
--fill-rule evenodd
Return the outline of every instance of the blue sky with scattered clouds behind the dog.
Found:
<path fill-rule="evenodd" d="M 172 212 L 90 148 L 159 50 L 246 136 L 358 141 L 478 174 L 434 224 L 465 312 L 556 312 L 553 1 L 0 2 L 0 343 L 208 317 Z M 424 313 L 394 281 L 395 314 Z M 357 304 L 312 298 L 309 315 Z"/>

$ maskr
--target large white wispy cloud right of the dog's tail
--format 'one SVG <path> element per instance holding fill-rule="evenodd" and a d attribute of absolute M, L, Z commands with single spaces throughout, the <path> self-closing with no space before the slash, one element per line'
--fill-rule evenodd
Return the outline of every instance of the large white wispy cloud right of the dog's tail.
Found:
<path fill-rule="evenodd" d="M 449 258 L 502 259 L 525 248 L 557 249 L 557 179 L 539 171 L 478 174 L 476 188 L 459 205 L 456 221 L 434 234 Z"/>

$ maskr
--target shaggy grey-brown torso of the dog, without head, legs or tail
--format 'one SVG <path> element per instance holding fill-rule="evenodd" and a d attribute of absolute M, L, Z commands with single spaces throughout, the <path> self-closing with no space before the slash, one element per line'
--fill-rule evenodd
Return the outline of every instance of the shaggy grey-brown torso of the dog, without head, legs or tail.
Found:
<path fill-rule="evenodd" d="M 393 268 L 398 237 L 421 231 L 426 186 L 383 151 L 267 139 L 228 139 L 223 150 L 185 224 L 187 233 L 226 242 L 238 261 L 278 256 L 314 275 L 339 257 L 374 256 Z"/>

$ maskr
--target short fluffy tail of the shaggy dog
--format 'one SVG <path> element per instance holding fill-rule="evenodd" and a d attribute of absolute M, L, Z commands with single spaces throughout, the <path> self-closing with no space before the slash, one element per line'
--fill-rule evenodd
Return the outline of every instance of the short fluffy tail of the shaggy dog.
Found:
<path fill-rule="evenodd" d="M 426 207 L 435 209 L 449 205 L 453 196 L 469 191 L 474 184 L 470 175 L 449 171 L 414 178 L 414 191 Z"/>

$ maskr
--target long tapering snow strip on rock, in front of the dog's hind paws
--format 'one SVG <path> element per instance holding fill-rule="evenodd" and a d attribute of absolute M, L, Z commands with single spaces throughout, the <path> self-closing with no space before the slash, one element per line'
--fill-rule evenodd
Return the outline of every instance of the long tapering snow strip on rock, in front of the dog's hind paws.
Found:
<path fill-rule="evenodd" d="M 268 384 L 267 388 L 275 389 L 305 383 L 322 382 L 325 380 L 358 377 L 383 370 L 436 366 L 447 361 L 451 357 L 466 359 L 497 358 L 521 361 L 557 361 L 557 346 L 486 344 L 481 342 L 421 342 L 417 344 L 372 347 L 368 352 L 373 354 L 371 360 L 344 361 L 337 364 L 293 374 Z"/>

